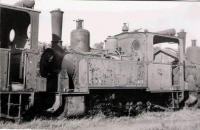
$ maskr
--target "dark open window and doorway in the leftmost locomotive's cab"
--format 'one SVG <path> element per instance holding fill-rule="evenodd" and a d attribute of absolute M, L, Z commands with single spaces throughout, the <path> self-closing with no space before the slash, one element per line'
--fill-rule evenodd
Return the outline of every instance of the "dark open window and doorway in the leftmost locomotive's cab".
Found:
<path fill-rule="evenodd" d="M 22 48 L 28 44 L 27 28 L 30 24 L 30 15 L 27 12 L 14 11 L 9 9 L 2 9 L 2 31 L 1 31 L 1 47 L 11 49 L 10 57 L 10 82 L 17 82 L 18 84 L 24 84 L 22 61 Z M 11 15 L 10 15 L 11 14 Z M 22 19 L 19 19 L 22 17 Z M 10 41 L 9 34 L 13 30 L 13 41 Z M 19 49 L 20 48 L 20 49 Z M 13 84 L 14 85 L 14 84 Z"/>

